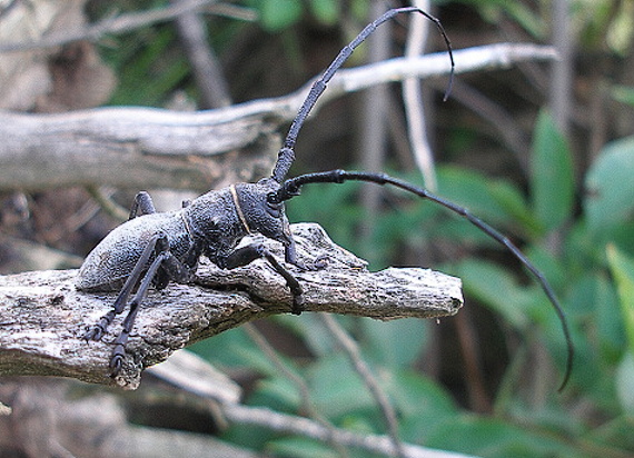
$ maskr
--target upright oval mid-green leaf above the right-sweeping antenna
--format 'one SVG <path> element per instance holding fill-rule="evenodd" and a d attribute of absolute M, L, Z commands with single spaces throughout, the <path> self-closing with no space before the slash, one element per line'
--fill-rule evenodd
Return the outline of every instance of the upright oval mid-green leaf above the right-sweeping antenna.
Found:
<path fill-rule="evenodd" d="M 567 141 L 546 111 L 537 118 L 533 138 L 531 190 L 535 216 L 547 231 L 572 215 L 574 173 Z"/>

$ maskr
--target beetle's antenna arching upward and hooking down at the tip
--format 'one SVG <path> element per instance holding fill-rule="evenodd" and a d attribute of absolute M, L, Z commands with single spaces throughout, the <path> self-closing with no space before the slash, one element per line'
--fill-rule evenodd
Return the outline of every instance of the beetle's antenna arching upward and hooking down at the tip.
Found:
<path fill-rule="evenodd" d="M 409 13 L 409 12 L 418 12 L 424 17 L 426 17 L 427 19 L 429 19 L 432 22 L 434 22 L 438 28 L 438 30 L 440 31 L 443 39 L 445 40 L 445 44 L 447 46 L 447 51 L 449 53 L 449 61 L 452 62 L 452 70 L 449 72 L 449 82 L 447 83 L 447 89 L 445 90 L 445 97 L 444 97 L 444 100 L 447 100 L 447 97 L 449 97 L 449 92 L 452 91 L 452 86 L 454 80 L 454 54 L 452 52 L 452 43 L 449 42 L 449 38 L 447 37 L 447 33 L 445 32 L 443 24 L 437 18 L 427 13 L 426 11 L 423 11 L 419 8 L 406 7 L 406 8 L 395 8 L 388 10 L 380 18 L 367 24 L 365 29 L 361 30 L 360 33 L 350 43 L 344 47 L 339 51 L 339 54 L 335 58 L 335 60 L 333 60 L 330 66 L 328 66 L 328 68 L 324 71 L 321 77 L 318 78 L 313 83 L 313 86 L 310 87 L 310 91 L 308 92 L 308 96 L 304 100 L 301 108 L 299 109 L 297 116 L 295 117 L 293 123 L 290 125 L 290 129 L 288 130 L 286 140 L 284 141 L 284 147 L 279 150 L 277 155 L 277 162 L 275 165 L 271 175 L 271 178 L 274 180 L 281 183 L 284 181 L 284 178 L 286 177 L 286 173 L 288 173 L 288 170 L 290 169 L 290 166 L 293 165 L 293 161 L 295 159 L 294 149 L 299 130 L 301 129 L 304 121 L 306 121 L 308 113 L 310 112 L 313 107 L 315 107 L 317 99 L 319 99 L 321 92 L 326 90 L 326 86 L 328 84 L 330 79 L 333 79 L 335 72 L 350 57 L 355 48 L 357 48 L 360 43 L 363 43 L 376 30 L 378 26 L 394 18 L 396 14 Z"/>

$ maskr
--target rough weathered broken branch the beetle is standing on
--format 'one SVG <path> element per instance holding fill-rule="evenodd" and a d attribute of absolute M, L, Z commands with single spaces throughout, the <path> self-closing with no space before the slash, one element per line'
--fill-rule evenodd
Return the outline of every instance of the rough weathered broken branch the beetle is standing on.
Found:
<path fill-rule="evenodd" d="M 328 259 L 321 270 L 293 269 L 305 288 L 307 311 L 390 320 L 454 315 L 462 307 L 457 278 L 420 268 L 370 272 L 319 226 L 294 225 L 293 231 L 301 258 Z M 261 241 L 284 259 L 279 243 Z M 115 320 L 103 341 L 87 342 L 81 336 L 111 308 L 115 295 L 77 291 L 76 275 L 49 270 L 0 277 L 0 374 L 63 376 L 135 388 L 143 368 L 175 350 L 247 321 L 286 313 L 291 306 L 284 280 L 264 261 L 234 270 L 205 263 L 192 285 L 170 285 L 149 295 L 123 369 L 113 380 L 108 369 L 110 342 L 121 320 Z"/>

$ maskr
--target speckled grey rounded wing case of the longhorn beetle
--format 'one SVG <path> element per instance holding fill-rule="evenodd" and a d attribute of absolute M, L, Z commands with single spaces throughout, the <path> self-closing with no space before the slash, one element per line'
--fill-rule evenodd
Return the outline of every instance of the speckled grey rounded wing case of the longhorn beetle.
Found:
<path fill-rule="evenodd" d="M 182 259 L 189 248 L 189 235 L 181 215 L 182 210 L 143 215 L 115 228 L 81 265 L 75 283 L 77 289 L 112 291 L 121 288 L 157 233 L 167 235 L 171 252 Z"/>

